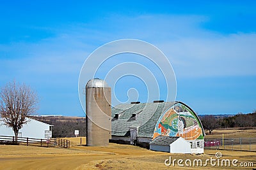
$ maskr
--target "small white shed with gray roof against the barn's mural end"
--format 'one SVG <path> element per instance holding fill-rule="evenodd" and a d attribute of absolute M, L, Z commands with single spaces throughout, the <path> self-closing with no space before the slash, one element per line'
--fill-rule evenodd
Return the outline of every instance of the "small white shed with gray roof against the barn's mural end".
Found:
<path fill-rule="evenodd" d="M 182 137 L 157 136 L 150 143 L 150 150 L 170 153 L 191 153 L 191 146 Z"/>

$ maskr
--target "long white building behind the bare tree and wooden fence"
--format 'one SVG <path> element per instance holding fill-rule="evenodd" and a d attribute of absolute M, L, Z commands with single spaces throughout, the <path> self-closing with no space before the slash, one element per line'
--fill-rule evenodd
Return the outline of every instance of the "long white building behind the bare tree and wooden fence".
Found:
<path fill-rule="evenodd" d="M 45 124 L 44 122 L 29 118 L 29 122 L 24 124 L 23 127 L 19 130 L 18 137 L 36 139 L 51 138 L 52 127 L 53 125 Z M 1 119 L 0 136 L 15 136 L 12 128 L 4 125 L 4 122 Z"/>

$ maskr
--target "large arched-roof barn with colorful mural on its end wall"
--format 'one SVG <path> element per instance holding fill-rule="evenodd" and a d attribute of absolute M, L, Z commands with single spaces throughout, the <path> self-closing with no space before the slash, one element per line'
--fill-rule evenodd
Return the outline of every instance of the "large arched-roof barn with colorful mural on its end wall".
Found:
<path fill-rule="evenodd" d="M 182 137 L 191 153 L 204 153 L 204 129 L 196 113 L 180 102 L 118 104 L 111 113 L 111 141 L 150 147 L 157 136 Z"/>

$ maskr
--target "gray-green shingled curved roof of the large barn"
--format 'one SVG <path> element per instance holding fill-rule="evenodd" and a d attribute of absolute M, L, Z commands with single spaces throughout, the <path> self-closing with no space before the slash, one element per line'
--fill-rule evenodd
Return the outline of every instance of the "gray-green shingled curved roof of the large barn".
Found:
<path fill-rule="evenodd" d="M 177 102 L 118 104 L 112 108 L 112 135 L 129 136 L 129 128 L 138 128 L 138 137 L 152 138 L 161 114 Z"/>

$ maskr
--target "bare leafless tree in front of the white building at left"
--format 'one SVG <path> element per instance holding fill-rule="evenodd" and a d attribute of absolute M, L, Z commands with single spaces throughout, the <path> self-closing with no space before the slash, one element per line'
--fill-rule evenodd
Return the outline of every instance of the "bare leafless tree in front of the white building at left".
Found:
<path fill-rule="evenodd" d="M 25 84 L 15 81 L 6 84 L 0 91 L 0 113 L 6 126 L 11 127 L 15 141 L 22 126 L 28 123 L 29 115 L 37 110 L 36 92 Z"/>

